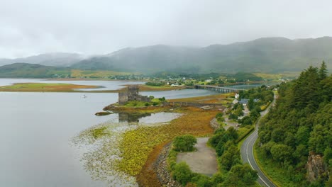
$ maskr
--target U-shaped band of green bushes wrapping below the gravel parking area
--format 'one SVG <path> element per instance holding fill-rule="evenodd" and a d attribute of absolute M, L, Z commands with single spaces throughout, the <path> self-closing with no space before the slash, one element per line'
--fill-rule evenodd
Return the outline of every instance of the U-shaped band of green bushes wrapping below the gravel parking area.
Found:
<path fill-rule="evenodd" d="M 216 149 L 219 171 L 209 177 L 197 174 L 189 169 L 185 162 L 176 163 L 177 152 L 173 148 L 168 156 L 172 176 L 182 186 L 253 186 L 258 178 L 257 172 L 248 164 L 241 164 L 240 151 L 236 144 L 238 132 L 234 128 L 220 128 L 209 139 L 209 144 Z M 173 142 L 173 145 L 175 142 Z"/>

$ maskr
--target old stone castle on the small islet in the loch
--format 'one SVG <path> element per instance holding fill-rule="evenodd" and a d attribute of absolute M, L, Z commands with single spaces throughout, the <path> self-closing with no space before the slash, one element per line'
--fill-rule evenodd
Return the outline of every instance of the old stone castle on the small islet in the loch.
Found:
<path fill-rule="evenodd" d="M 138 94 L 138 85 L 129 85 L 127 91 L 118 93 L 119 105 L 124 105 L 128 101 L 150 102 L 151 99 L 148 96 L 141 96 Z"/>

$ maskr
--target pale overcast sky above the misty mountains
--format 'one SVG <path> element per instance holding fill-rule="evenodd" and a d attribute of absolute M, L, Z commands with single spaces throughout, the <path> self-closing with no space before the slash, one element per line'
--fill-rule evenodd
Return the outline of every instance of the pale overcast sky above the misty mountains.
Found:
<path fill-rule="evenodd" d="M 332 1 L 0 0 L 0 57 L 332 35 Z"/>

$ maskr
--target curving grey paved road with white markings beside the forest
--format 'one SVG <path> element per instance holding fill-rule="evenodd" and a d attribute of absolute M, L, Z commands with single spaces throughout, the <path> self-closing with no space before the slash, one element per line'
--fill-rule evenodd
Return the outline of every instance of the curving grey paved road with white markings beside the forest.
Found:
<path fill-rule="evenodd" d="M 276 185 L 272 183 L 272 181 L 270 181 L 270 179 L 268 179 L 267 176 L 265 176 L 265 174 L 262 173 L 262 170 L 260 170 L 260 168 L 258 167 L 258 164 L 255 161 L 255 157 L 253 156 L 253 147 L 258 138 L 258 124 L 260 123 L 260 119 L 268 113 L 271 106 L 275 105 L 275 99 L 272 101 L 269 108 L 260 113 L 260 118 L 255 124 L 256 126 L 255 131 L 249 137 L 247 137 L 247 139 L 245 139 L 243 145 L 241 146 L 241 157 L 243 162 L 250 164 L 250 166 L 253 169 L 258 171 L 258 179 L 257 179 L 258 183 L 260 183 L 261 186 L 267 186 L 267 187 L 274 187 Z"/>

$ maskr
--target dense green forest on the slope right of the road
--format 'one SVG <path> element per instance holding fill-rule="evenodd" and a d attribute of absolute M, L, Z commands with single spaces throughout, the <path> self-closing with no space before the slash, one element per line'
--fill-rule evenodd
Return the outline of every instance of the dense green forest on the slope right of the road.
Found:
<path fill-rule="evenodd" d="M 279 99 L 259 129 L 265 159 L 279 162 L 289 181 L 306 185 L 309 154 L 320 154 L 332 165 L 332 77 L 326 64 L 309 67 L 298 79 L 280 84 Z M 330 168 L 331 171 L 331 168 Z M 330 177 L 331 180 L 331 177 Z M 312 186 L 324 186 L 322 174 Z M 330 181 L 331 183 L 331 181 Z"/>

